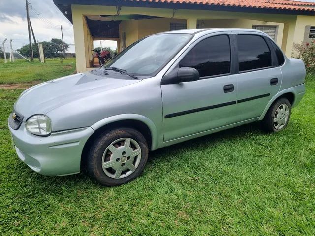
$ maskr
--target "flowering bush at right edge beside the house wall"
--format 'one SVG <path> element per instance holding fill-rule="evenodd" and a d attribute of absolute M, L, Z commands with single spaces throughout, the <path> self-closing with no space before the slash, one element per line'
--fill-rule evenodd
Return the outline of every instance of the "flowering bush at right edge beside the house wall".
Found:
<path fill-rule="evenodd" d="M 297 58 L 304 61 L 306 72 L 315 74 L 315 40 L 311 43 L 296 43 L 293 47 L 298 54 Z"/>

